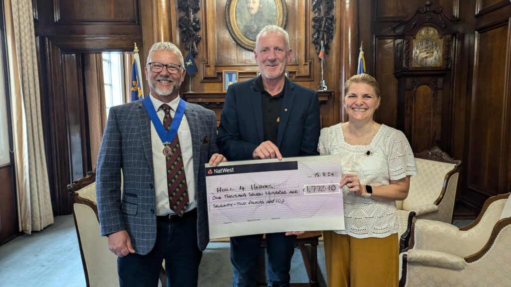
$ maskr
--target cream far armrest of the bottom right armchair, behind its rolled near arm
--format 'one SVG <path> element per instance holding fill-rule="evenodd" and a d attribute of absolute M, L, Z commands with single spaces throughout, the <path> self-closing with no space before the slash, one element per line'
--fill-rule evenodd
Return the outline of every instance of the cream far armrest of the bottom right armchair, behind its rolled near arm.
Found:
<path fill-rule="evenodd" d="M 415 222 L 413 230 L 413 249 L 446 252 L 465 257 L 474 253 L 474 248 L 471 248 L 472 241 L 473 237 L 478 235 L 476 231 L 460 231 L 456 226 L 445 222 L 419 219 Z"/>

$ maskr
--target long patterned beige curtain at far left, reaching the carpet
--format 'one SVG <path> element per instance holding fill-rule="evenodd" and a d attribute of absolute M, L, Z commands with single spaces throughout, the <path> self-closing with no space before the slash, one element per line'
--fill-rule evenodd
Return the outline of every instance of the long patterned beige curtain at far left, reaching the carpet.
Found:
<path fill-rule="evenodd" d="M 4 0 L 4 5 L 19 228 L 30 234 L 53 223 L 41 126 L 32 0 Z"/>

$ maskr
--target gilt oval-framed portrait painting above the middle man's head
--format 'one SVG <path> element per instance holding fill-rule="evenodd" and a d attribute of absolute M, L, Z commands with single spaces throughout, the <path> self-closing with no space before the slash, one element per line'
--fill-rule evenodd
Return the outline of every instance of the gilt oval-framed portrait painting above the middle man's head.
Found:
<path fill-rule="evenodd" d="M 227 0 L 225 21 L 234 41 L 243 49 L 255 49 L 255 37 L 266 25 L 285 28 L 285 0 Z"/>

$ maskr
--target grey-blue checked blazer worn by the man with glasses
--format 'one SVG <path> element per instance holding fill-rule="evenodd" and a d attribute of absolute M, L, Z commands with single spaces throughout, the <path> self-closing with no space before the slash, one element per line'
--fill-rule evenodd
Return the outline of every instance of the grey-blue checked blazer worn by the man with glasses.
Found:
<path fill-rule="evenodd" d="M 190 103 L 186 103 L 184 115 L 192 135 L 197 244 L 204 250 L 209 240 L 204 163 L 218 152 L 217 121 L 213 111 Z M 124 178 L 122 196 L 121 169 Z M 127 230 L 133 248 L 142 255 L 152 250 L 156 240 L 153 169 L 151 119 L 142 101 L 110 108 L 96 174 L 101 236 Z"/>

